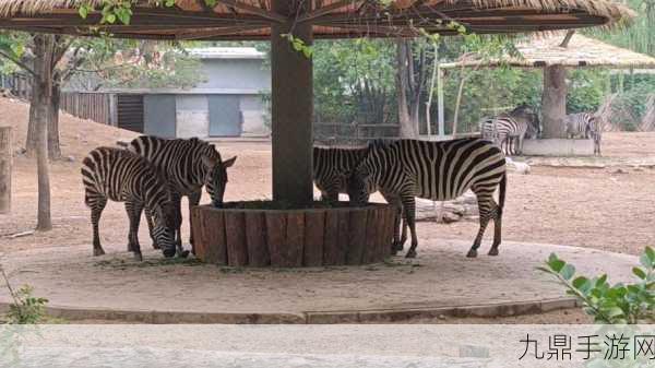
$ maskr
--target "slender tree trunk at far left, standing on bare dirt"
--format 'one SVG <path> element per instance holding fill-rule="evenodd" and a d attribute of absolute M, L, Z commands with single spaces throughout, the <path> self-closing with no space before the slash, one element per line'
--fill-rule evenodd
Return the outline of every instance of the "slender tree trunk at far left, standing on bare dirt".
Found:
<path fill-rule="evenodd" d="M 51 59 L 55 47 L 52 35 L 34 36 L 34 70 L 38 78 L 33 84 L 34 124 L 36 129 L 36 165 L 38 175 L 38 213 L 36 229 L 52 228 L 50 217 L 50 168 L 48 166 L 48 120 L 52 92 Z"/>

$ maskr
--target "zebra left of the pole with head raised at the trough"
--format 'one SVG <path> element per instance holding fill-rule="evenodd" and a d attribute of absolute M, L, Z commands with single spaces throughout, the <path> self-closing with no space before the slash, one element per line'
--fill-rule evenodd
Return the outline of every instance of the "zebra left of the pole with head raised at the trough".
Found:
<path fill-rule="evenodd" d="M 202 186 L 206 186 L 206 191 L 210 193 L 215 206 L 223 205 L 223 197 L 227 185 L 226 169 L 235 164 L 237 157 L 223 162 L 221 154 L 213 144 L 198 138 L 167 140 L 142 135 L 134 139 L 128 150 L 153 163 L 167 179 L 175 212 L 178 216 L 176 244 L 178 252 L 181 253 L 182 195 L 189 197 L 189 213 L 191 213 L 192 206 L 200 203 Z M 152 221 L 147 211 L 145 217 L 148 227 L 152 229 Z M 189 221 L 191 221 L 191 216 L 189 216 Z M 193 235 L 189 237 L 189 242 L 193 247 Z M 153 242 L 153 247 L 158 248 L 158 246 L 156 241 Z"/>

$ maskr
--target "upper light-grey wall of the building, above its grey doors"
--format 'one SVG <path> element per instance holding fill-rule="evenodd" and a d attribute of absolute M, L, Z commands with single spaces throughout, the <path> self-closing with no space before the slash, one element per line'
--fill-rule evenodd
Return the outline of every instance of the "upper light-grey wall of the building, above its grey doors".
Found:
<path fill-rule="evenodd" d="M 271 71 L 263 68 L 264 60 L 202 59 L 207 80 L 199 88 L 271 90 Z"/>

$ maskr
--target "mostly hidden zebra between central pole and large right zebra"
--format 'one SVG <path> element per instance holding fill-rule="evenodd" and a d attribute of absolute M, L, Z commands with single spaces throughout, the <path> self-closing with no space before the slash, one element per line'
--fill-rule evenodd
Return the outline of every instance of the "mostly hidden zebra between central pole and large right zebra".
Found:
<path fill-rule="evenodd" d="M 340 193 L 347 193 L 353 170 L 368 153 L 368 147 L 360 149 L 323 149 L 313 147 L 313 180 L 321 191 L 321 199 L 329 202 L 338 201 Z M 367 193 L 377 189 L 368 188 Z M 366 202 L 368 202 L 368 194 Z M 394 244 L 392 248 L 402 247 L 407 240 L 407 224 L 403 222 L 403 234 L 400 234 L 402 204 L 400 197 L 382 192 L 384 200 L 398 209 L 394 224 Z"/>

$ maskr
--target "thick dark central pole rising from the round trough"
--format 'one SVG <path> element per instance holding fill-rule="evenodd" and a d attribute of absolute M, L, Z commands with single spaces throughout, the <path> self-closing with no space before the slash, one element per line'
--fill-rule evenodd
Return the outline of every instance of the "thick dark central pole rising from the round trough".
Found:
<path fill-rule="evenodd" d="M 273 199 L 302 205 L 313 199 L 312 60 L 295 50 L 284 35 L 293 31 L 294 37 L 309 46 L 312 28 L 310 23 L 293 25 L 293 4 L 272 1 L 273 11 L 289 16 L 289 22 L 271 29 Z"/>

